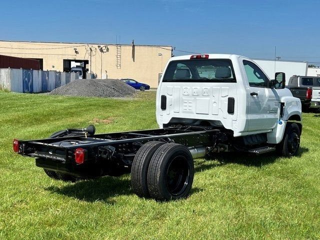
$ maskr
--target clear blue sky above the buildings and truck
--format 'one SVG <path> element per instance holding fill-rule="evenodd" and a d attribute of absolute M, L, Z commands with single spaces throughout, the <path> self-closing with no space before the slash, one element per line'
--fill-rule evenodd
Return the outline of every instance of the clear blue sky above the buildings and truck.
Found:
<path fill-rule="evenodd" d="M 2 1 L 2 40 L 172 45 L 320 62 L 319 0 Z M 175 51 L 180 55 L 183 52 Z"/>

